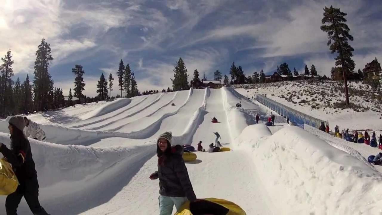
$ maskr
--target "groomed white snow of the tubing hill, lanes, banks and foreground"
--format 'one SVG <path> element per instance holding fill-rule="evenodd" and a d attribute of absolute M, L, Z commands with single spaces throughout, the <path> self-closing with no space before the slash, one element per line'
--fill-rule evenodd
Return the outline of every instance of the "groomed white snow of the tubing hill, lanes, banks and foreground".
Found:
<path fill-rule="evenodd" d="M 149 175 L 157 171 L 159 134 L 208 149 L 219 132 L 233 150 L 196 151 L 197 160 L 186 163 L 197 198 L 227 199 L 248 215 L 382 213 L 382 174 L 364 159 L 367 151 L 314 128 L 255 124 L 256 114 L 265 119 L 269 110 L 224 87 L 33 114 L 47 135 L 47 142 L 29 138 L 40 202 L 55 215 L 158 214 L 159 181 Z M 7 126 L 0 119 L 0 142 L 9 147 Z M 30 214 L 24 200 L 18 213 Z"/>

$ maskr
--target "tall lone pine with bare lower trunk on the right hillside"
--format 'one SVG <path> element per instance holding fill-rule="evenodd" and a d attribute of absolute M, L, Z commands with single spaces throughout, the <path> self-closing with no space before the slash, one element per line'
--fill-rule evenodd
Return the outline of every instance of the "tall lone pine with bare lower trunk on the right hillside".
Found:
<path fill-rule="evenodd" d="M 353 57 L 353 47 L 348 44 L 348 40 L 353 41 L 353 36 L 349 34 L 350 28 L 346 24 L 346 13 L 340 11 L 340 8 L 324 8 L 324 17 L 321 20 L 323 24 L 320 29 L 328 34 L 327 46 L 330 46 L 332 54 L 337 52 L 335 65 L 342 66 L 343 81 L 345 83 L 346 104 L 349 105 L 348 83 L 346 74 L 353 71 L 355 64 Z M 333 42 L 332 42 L 333 41 Z"/>

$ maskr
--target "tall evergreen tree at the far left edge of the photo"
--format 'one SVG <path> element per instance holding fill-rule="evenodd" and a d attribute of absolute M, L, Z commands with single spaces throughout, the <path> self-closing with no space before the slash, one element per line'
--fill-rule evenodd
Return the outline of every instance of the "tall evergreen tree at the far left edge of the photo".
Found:
<path fill-rule="evenodd" d="M 2 65 L 0 65 L 0 72 L 2 76 L 2 112 L 5 112 L 6 110 L 10 111 L 13 109 L 13 96 L 12 96 L 12 77 L 15 75 L 13 73 L 12 64 L 14 61 L 12 60 L 12 54 L 11 50 L 8 50 L 4 57 L 1 58 Z"/>

